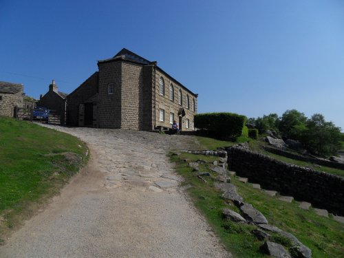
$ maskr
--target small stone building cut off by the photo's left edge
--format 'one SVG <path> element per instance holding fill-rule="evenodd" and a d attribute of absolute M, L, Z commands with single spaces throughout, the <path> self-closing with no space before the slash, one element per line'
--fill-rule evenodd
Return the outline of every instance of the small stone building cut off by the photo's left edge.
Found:
<path fill-rule="evenodd" d="M 0 116 L 14 117 L 14 107 L 23 107 L 24 86 L 0 82 Z"/>

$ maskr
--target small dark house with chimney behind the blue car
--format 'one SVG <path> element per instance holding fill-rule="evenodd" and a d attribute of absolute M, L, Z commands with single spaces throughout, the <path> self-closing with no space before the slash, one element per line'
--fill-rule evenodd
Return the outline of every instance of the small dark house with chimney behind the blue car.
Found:
<path fill-rule="evenodd" d="M 52 84 L 49 85 L 49 91 L 45 95 L 39 97 L 36 106 L 47 107 L 47 109 L 52 110 L 54 114 L 64 117 L 66 111 L 66 97 L 67 94 L 58 92 L 58 86 L 55 80 L 52 80 Z"/>

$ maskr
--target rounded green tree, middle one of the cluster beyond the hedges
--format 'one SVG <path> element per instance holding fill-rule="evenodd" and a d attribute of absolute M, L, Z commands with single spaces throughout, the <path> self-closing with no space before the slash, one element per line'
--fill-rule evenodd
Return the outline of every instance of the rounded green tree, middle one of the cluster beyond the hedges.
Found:
<path fill-rule="evenodd" d="M 307 117 L 305 114 L 297 111 L 296 109 L 287 110 L 283 113 L 282 118 L 279 122 L 279 131 L 285 138 L 292 138 L 294 140 L 300 140 L 299 135 L 295 127 L 303 127 Z"/>

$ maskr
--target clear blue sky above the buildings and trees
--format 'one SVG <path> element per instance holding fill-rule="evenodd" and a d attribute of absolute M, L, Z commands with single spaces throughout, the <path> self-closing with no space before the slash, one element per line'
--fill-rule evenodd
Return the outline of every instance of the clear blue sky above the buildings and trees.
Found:
<path fill-rule="evenodd" d="M 70 93 L 122 47 L 199 94 L 198 112 L 297 109 L 344 129 L 344 1 L 0 0 L 0 80 Z"/>

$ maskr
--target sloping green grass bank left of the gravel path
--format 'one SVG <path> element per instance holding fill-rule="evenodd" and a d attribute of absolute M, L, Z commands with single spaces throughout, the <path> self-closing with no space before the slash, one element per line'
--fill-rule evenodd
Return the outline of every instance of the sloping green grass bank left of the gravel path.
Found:
<path fill-rule="evenodd" d="M 0 117 L 0 238 L 58 193 L 87 162 L 86 151 L 85 143 L 67 133 Z M 65 153 L 77 156 L 69 155 L 73 161 Z"/>

